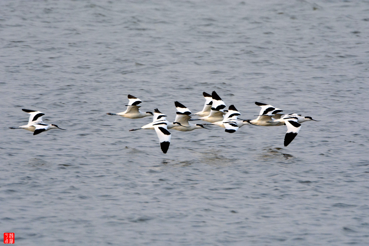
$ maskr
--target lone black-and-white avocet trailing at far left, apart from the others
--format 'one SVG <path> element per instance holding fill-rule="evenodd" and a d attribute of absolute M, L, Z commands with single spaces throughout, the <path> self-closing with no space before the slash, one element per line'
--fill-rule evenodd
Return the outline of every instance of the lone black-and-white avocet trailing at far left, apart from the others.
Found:
<path fill-rule="evenodd" d="M 28 119 L 27 125 L 22 125 L 20 127 L 9 127 L 10 129 L 26 129 L 28 131 L 33 132 L 33 135 L 40 134 L 41 132 L 48 131 L 50 129 L 59 128 L 55 124 L 45 124 L 42 121 L 42 116 L 45 115 L 43 112 L 29 109 L 22 109 L 24 112 L 30 114 L 30 118 Z M 59 128 L 62 129 L 62 128 Z M 66 129 L 62 129 L 66 130 Z"/>

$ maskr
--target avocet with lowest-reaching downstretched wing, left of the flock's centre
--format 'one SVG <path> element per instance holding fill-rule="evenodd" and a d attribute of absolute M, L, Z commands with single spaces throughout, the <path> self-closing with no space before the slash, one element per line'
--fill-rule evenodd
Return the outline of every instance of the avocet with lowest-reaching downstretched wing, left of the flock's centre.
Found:
<path fill-rule="evenodd" d="M 158 135 L 160 147 L 164 154 L 168 151 L 170 144 L 171 134 L 168 129 L 181 126 L 179 122 L 169 122 L 166 120 L 166 115 L 160 112 L 157 108 L 154 110 L 153 121 L 150 124 L 144 125 L 138 129 L 131 129 L 130 131 L 136 131 L 139 129 L 155 129 L 156 134 Z"/>

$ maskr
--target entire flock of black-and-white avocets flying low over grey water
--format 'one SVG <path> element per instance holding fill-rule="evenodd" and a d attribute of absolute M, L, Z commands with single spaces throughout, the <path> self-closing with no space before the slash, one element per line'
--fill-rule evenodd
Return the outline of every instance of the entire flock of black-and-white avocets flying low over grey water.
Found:
<path fill-rule="evenodd" d="M 138 119 L 144 118 L 146 116 L 153 116 L 153 121 L 150 124 L 144 125 L 138 129 L 131 129 L 130 131 L 136 131 L 139 129 L 154 129 L 158 135 L 159 142 L 163 153 L 166 153 L 170 144 L 171 134 L 168 129 L 175 129 L 178 131 L 192 131 L 194 129 L 205 128 L 204 125 L 218 125 L 225 128 L 226 132 L 233 133 L 238 130 L 238 128 L 243 125 L 261 125 L 261 126 L 279 126 L 286 125 L 287 132 L 284 136 L 284 146 L 289 145 L 290 142 L 296 137 L 301 128 L 301 123 L 304 121 L 317 121 L 310 116 L 301 116 L 301 114 L 284 114 L 283 110 L 275 108 L 272 105 L 265 103 L 255 102 L 256 105 L 261 107 L 261 111 L 256 119 L 238 119 L 241 114 L 235 108 L 234 105 L 230 105 L 228 110 L 226 110 L 226 105 L 224 101 L 218 96 L 218 94 L 213 91 L 213 93 L 208 94 L 203 93 L 205 98 L 205 104 L 203 110 L 197 112 L 193 115 L 200 116 L 197 119 L 191 119 L 192 112 L 183 104 L 175 101 L 175 106 L 177 109 L 177 114 L 174 122 L 169 122 L 166 120 L 166 115 L 162 114 L 157 108 L 155 108 L 154 113 L 152 112 L 141 112 L 139 108 L 142 101 L 134 96 L 128 95 L 128 105 L 127 110 L 117 114 L 107 113 L 108 115 L 120 115 L 122 117 Z M 42 116 L 45 115 L 40 111 L 22 109 L 24 112 L 30 114 L 27 125 L 20 127 L 10 127 L 11 129 L 26 129 L 28 131 L 34 132 L 33 135 L 40 134 L 43 131 L 48 131 L 50 129 L 62 129 L 55 124 L 45 124 L 42 121 Z M 203 120 L 210 122 L 211 124 L 192 124 L 189 121 Z M 66 130 L 66 129 L 62 129 Z"/>

